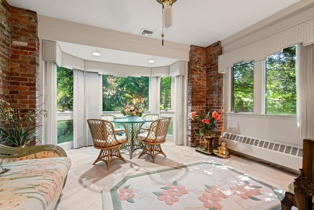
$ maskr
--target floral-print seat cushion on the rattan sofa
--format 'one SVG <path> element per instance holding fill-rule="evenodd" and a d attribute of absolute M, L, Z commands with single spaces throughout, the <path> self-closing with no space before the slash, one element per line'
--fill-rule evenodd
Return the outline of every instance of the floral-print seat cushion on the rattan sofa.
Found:
<path fill-rule="evenodd" d="M 1 164 L 0 209 L 53 210 L 71 167 L 69 157 L 28 159 Z"/>

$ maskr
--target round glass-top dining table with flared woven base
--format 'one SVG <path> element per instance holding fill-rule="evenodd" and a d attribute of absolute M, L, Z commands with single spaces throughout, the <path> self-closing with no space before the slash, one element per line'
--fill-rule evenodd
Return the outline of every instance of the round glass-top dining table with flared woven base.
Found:
<path fill-rule="evenodd" d="M 136 132 L 146 122 L 152 122 L 154 120 L 143 120 L 142 118 L 137 118 L 134 121 L 129 121 L 127 118 L 118 118 L 116 120 L 111 120 L 113 123 L 121 124 L 123 128 L 127 131 L 129 135 L 129 142 L 120 147 L 120 150 L 128 150 L 130 152 L 130 159 L 135 150 L 143 149 L 143 144 L 136 140 Z"/>

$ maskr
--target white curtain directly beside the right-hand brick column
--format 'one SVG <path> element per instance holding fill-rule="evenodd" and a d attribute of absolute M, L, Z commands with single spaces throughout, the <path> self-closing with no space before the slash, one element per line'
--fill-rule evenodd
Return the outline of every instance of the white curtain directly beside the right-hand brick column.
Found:
<path fill-rule="evenodd" d="M 175 116 L 173 120 L 173 135 L 176 145 L 187 145 L 186 133 L 186 115 L 185 115 L 185 81 L 184 76 L 172 77 L 175 79 L 174 105 Z"/>

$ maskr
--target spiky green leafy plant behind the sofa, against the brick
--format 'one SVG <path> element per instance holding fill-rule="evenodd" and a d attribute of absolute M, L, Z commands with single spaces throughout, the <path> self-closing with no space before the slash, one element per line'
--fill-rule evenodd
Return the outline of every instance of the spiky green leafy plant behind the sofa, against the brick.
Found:
<path fill-rule="evenodd" d="M 41 125 L 36 125 L 36 122 L 38 118 L 46 116 L 47 111 L 35 106 L 23 113 L 22 91 L 15 107 L 9 90 L 7 88 L 6 90 L 8 101 L 0 99 L 0 143 L 10 147 L 22 147 L 27 146 L 33 140 L 40 141 L 36 128 Z M 34 99 L 35 102 L 36 99 Z"/>

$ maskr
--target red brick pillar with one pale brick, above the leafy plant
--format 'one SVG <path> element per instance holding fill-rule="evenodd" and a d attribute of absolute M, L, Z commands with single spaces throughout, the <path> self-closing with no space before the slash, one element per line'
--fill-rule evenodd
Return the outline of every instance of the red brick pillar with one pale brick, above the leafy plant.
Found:
<path fill-rule="evenodd" d="M 39 94 L 39 38 L 36 12 L 11 7 L 10 91 L 22 90 L 23 108 L 31 109 Z M 33 104 L 34 106 L 34 104 Z"/>

